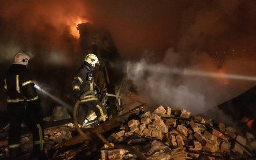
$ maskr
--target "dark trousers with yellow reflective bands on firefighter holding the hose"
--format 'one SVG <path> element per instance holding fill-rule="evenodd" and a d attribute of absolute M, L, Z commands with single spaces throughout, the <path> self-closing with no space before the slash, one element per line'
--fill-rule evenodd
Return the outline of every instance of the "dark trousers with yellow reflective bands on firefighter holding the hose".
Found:
<path fill-rule="evenodd" d="M 79 104 L 78 122 L 80 124 L 82 124 L 82 122 L 86 118 L 88 109 L 91 109 L 95 112 L 99 122 L 104 122 L 108 119 L 105 106 L 103 106 L 99 100 L 92 100 L 92 101 L 83 102 Z"/>

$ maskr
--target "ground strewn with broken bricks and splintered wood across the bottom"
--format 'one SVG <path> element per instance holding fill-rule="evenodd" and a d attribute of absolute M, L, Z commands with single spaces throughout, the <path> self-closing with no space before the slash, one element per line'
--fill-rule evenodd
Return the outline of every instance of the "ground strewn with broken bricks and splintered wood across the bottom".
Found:
<path fill-rule="evenodd" d="M 76 135 L 74 126 L 46 129 L 46 150 L 49 156 L 50 152 L 54 152 L 55 159 L 66 160 L 255 158 L 256 139 L 253 134 L 242 133 L 225 126 L 223 122 L 216 123 L 202 116 L 192 116 L 184 109 L 172 110 L 170 107 L 159 106 L 152 113 L 142 110 L 138 108 L 95 128 L 86 128 L 86 141 Z M 30 136 L 21 139 L 24 152 L 32 148 Z M 8 154 L 6 140 L 0 142 L 0 148 L 0 157 Z"/>

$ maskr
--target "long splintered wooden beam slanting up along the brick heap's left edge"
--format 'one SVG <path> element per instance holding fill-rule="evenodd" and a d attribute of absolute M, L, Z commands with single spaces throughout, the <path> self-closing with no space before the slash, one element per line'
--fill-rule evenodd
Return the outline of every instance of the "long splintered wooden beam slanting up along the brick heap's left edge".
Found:
<path fill-rule="evenodd" d="M 75 144 L 82 143 L 86 140 L 90 140 L 90 138 L 96 138 L 97 134 L 102 134 L 104 132 L 107 132 L 109 130 L 112 130 L 113 128 L 120 126 L 120 124 L 122 124 L 130 114 L 141 110 L 145 105 L 146 104 L 141 104 L 140 106 L 137 106 L 132 110 L 129 110 L 128 112 L 120 116 L 117 116 L 116 118 L 112 118 L 107 122 L 104 122 L 103 124 L 100 124 L 94 128 L 86 128 L 86 131 L 84 132 L 84 134 L 88 136 L 88 139 L 84 139 L 81 135 L 77 135 L 73 138 L 70 138 L 69 140 L 56 144 L 56 146 L 54 146 L 54 149 L 57 150 L 63 146 L 72 146 Z"/>

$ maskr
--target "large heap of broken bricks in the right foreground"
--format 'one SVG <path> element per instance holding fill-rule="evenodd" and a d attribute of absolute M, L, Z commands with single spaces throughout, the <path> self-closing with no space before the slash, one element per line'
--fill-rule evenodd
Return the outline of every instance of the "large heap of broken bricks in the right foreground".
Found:
<path fill-rule="evenodd" d="M 251 153 L 256 149 L 253 134 L 244 135 L 223 122 L 215 124 L 202 116 L 192 116 L 187 110 L 162 106 L 126 121 L 107 139 L 112 146 L 133 146 L 148 160 L 252 159 Z M 106 144 L 100 153 L 101 160 L 140 159 L 128 150 Z"/>

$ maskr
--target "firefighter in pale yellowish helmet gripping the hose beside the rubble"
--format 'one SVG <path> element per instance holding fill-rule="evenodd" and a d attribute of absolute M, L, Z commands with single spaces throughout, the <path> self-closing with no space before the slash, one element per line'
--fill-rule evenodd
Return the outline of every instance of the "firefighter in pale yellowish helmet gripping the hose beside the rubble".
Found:
<path fill-rule="evenodd" d="M 82 63 L 82 66 L 72 81 L 74 96 L 76 100 L 80 100 L 79 106 L 85 111 L 84 114 L 81 114 L 79 111 L 81 109 L 78 108 L 78 122 L 80 124 L 82 124 L 86 118 L 88 108 L 95 112 L 99 123 L 103 123 L 108 120 L 106 108 L 98 100 L 95 94 L 89 94 L 80 99 L 80 96 L 84 92 L 90 90 L 96 90 L 98 94 L 101 93 L 101 90 L 99 90 L 98 86 L 94 84 L 94 78 L 92 76 L 92 71 L 94 70 L 96 64 L 100 64 L 97 56 L 94 54 L 88 54 L 84 60 L 84 63 Z M 82 117 L 79 114 L 82 115 Z"/>

